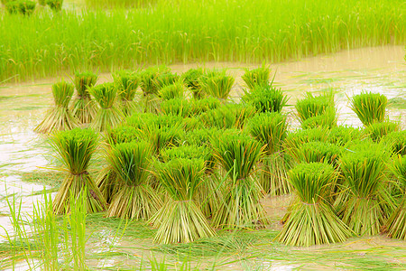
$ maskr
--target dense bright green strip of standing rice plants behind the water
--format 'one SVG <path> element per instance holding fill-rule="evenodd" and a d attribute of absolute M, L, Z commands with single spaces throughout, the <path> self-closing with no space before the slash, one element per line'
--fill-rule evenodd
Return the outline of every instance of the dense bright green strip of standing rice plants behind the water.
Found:
<path fill-rule="evenodd" d="M 402 0 L 157 0 L 138 9 L 0 12 L 0 82 L 77 69 L 275 62 L 401 44 Z"/>

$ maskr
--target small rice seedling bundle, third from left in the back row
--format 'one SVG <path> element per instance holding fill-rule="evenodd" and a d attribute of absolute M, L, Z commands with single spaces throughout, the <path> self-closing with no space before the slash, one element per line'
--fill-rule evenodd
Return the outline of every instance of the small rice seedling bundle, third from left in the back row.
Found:
<path fill-rule="evenodd" d="M 114 128 L 123 120 L 123 113 L 115 107 L 117 89 L 113 83 L 104 83 L 88 90 L 96 99 L 99 110 L 91 126 L 98 132 Z"/>

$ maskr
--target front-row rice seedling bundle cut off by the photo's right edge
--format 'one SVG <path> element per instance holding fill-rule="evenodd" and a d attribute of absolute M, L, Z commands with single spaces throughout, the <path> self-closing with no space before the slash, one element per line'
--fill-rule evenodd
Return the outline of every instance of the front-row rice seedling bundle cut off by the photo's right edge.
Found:
<path fill-rule="evenodd" d="M 395 157 L 392 172 L 399 182 L 402 197 L 398 207 L 387 221 L 386 228 L 390 237 L 406 240 L 406 156 Z"/>

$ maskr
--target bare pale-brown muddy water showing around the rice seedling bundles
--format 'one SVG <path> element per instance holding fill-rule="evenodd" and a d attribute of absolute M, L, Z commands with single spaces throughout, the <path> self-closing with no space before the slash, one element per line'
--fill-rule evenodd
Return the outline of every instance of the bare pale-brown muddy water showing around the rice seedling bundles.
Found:
<path fill-rule="evenodd" d="M 348 107 L 348 98 L 362 90 L 380 92 L 388 98 L 406 99 L 406 65 L 402 46 L 385 46 L 342 51 L 332 55 L 308 58 L 303 61 L 291 61 L 272 64 L 275 72 L 275 84 L 290 97 L 293 105 L 305 91 L 318 92 L 326 89 L 336 91 L 339 123 L 361 126 L 361 122 Z M 243 93 L 244 82 L 241 76 L 245 68 L 256 68 L 257 65 L 240 63 L 201 63 L 189 65 L 172 65 L 171 69 L 181 73 L 195 67 L 226 68 L 230 75 L 235 76 L 233 97 Z M 68 75 L 66 79 L 69 80 Z M 32 132 L 51 105 L 51 84 L 56 79 L 39 79 L 19 85 L 6 84 L 0 87 L 0 238 L 5 230 L 12 226 L 8 221 L 8 208 L 5 195 L 23 196 L 23 211 L 32 210 L 32 201 L 36 197 L 26 197 L 32 192 L 43 189 L 42 185 L 21 182 L 15 172 L 32 172 L 49 164 L 49 148 L 45 147 L 46 138 Z M 111 75 L 100 75 L 98 83 L 111 81 Z M 292 112 L 292 107 L 287 108 Z M 390 109 L 392 117 L 400 117 L 403 128 L 406 127 L 405 110 Z M 293 122 L 294 123 L 294 122 Z M 46 154 L 46 155 L 44 155 Z M 279 220 L 290 202 L 290 197 L 267 198 L 263 205 L 272 217 L 272 228 L 281 229 Z M 3 214 L 3 215 L 2 215 Z M 367 248 L 374 246 L 392 246 L 392 240 L 376 237 L 348 246 Z M 388 243 L 389 242 L 389 243 Z M 404 247 L 404 244 L 402 245 Z M 281 267 L 283 268 L 283 267 Z M 282 269 L 278 269 L 282 270 Z"/>

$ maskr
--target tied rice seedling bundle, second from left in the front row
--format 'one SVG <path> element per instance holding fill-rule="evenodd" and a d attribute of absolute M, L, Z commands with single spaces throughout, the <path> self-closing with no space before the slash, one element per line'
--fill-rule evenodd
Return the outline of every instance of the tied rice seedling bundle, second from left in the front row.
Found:
<path fill-rule="evenodd" d="M 119 189 L 107 217 L 149 220 L 161 208 L 161 199 L 149 183 L 151 155 L 151 145 L 144 141 L 112 146 L 107 160 L 117 176 Z"/>

